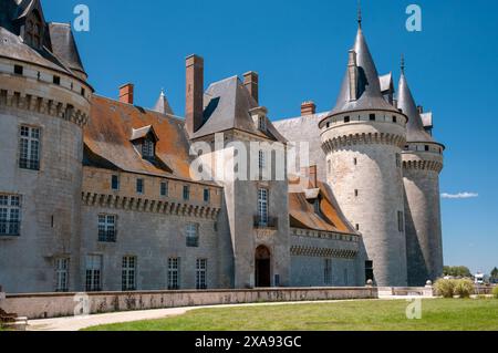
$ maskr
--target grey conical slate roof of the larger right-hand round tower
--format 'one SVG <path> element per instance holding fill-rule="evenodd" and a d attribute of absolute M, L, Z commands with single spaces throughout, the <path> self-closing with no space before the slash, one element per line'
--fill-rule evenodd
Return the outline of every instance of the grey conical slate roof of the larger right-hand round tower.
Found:
<path fill-rule="evenodd" d="M 350 81 L 346 70 L 335 107 L 330 115 L 363 110 L 397 112 L 397 110 L 387 103 L 382 95 L 377 69 L 375 68 L 375 63 L 361 28 L 357 30 L 353 50 L 356 53 L 356 64 L 359 69 L 357 100 L 350 100 Z"/>

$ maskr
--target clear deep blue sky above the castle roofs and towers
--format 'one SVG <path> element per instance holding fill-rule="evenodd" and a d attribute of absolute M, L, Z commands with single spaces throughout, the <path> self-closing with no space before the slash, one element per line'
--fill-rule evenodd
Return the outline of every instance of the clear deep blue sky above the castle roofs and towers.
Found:
<path fill-rule="evenodd" d="M 44 0 L 48 20 L 91 11 L 76 33 L 90 82 L 101 95 L 135 83 L 135 103 L 152 106 L 162 87 L 184 113 L 185 56 L 205 58 L 209 82 L 260 74 L 260 101 L 273 120 L 299 115 L 313 100 L 335 102 L 356 31 L 356 1 Z M 423 11 L 423 31 L 405 29 L 408 4 Z M 363 29 L 380 73 L 400 74 L 400 55 L 418 104 L 434 112 L 447 146 L 442 193 L 445 263 L 489 272 L 498 267 L 498 1 L 363 0 Z"/>

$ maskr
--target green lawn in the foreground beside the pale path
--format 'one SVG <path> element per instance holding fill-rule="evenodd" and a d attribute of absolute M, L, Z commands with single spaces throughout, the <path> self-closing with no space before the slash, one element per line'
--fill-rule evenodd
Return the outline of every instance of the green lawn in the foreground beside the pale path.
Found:
<path fill-rule="evenodd" d="M 237 307 L 193 310 L 179 316 L 102 325 L 89 331 L 498 331 L 496 299 L 428 299 L 422 319 L 406 319 L 404 300 Z"/>

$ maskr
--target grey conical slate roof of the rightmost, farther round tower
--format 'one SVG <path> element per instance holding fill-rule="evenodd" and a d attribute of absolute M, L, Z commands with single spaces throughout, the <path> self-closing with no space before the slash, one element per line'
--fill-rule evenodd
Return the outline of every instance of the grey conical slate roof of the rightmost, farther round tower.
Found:
<path fill-rule="evenodd" d="M 397 89 L 397 107 L 408 116 L 406 124 L 406 141 L 434 143 L 433 136 L 427 134 L 422 122 L 421 113 L 415 104 L 412 92 L 409 91 L 408 82 L 406 81 L 404 64 L 402 64 L 402 74 L 400 77 L 400 86 Z"/>

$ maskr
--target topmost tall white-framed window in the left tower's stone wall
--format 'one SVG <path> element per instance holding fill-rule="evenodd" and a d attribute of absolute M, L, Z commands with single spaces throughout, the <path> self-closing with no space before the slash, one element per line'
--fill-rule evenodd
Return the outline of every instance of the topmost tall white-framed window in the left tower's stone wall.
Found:
<path fill-rule="evenodd" d="M 21 126 L 19 139 L 19 167 L 40 169 L 40 128 Z"/>

